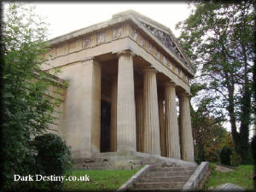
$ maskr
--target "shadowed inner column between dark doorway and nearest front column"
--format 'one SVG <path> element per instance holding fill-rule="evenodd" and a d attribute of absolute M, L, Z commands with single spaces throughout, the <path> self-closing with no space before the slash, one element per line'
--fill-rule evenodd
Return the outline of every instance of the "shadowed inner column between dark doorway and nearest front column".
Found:
<path fill-rule="evenodd" d="M 111 85 L 111 121 L 110 121 L 110 150 L 116 151 L 117 127 L 117 77 L 112 79 Z"/>

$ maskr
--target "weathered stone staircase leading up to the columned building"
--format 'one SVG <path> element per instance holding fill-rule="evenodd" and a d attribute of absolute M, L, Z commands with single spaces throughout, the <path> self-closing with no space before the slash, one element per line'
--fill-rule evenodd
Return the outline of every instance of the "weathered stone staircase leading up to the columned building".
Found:
<path fill-rule="evenodd" d="M 138 177 L 128 191 L 170 191 L 180 190 L 195 172 L 197 166 L 161 165 L 151 166 Z"/>

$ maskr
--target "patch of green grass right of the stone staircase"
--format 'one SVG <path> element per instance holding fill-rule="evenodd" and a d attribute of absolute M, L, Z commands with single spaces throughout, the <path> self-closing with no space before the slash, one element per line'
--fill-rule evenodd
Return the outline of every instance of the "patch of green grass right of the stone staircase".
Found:
<path fill-rule="evenodd" d="M 244 189 L 255 191 L 253 183 L 253 165 L 238 166 L 236 170 L 232 172 L 218 172 L 213 170 L 213 168 L 214 164 L 210 164 L 212 174 L 205 183 L 204 189 L 216 187 L 224 183 L 233 183 Z"/>

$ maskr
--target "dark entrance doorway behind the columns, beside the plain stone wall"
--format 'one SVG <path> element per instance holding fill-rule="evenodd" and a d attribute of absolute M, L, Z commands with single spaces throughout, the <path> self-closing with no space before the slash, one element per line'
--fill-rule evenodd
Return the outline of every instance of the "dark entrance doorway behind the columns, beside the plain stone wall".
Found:
<path fill-rule="evenodd" d="M 101 153 L 110 152 L 110 102 L 101 103 Z"/>

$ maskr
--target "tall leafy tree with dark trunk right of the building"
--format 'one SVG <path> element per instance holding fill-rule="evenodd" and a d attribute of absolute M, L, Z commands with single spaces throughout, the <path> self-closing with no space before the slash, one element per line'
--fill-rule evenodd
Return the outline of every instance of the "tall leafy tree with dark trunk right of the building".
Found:
<path fill-rule="evenodd" d="M 206 2 L 195 3 L 189 18 L 177 24 L 179 41 L 199 72 L 195 82 L 206 86 L 201 96 L 210 99 L 212 114 L 229 120 L 242 164 L 250 159 L 248 133 L 255 108 L 254 18 L 253 1 Z"/>

